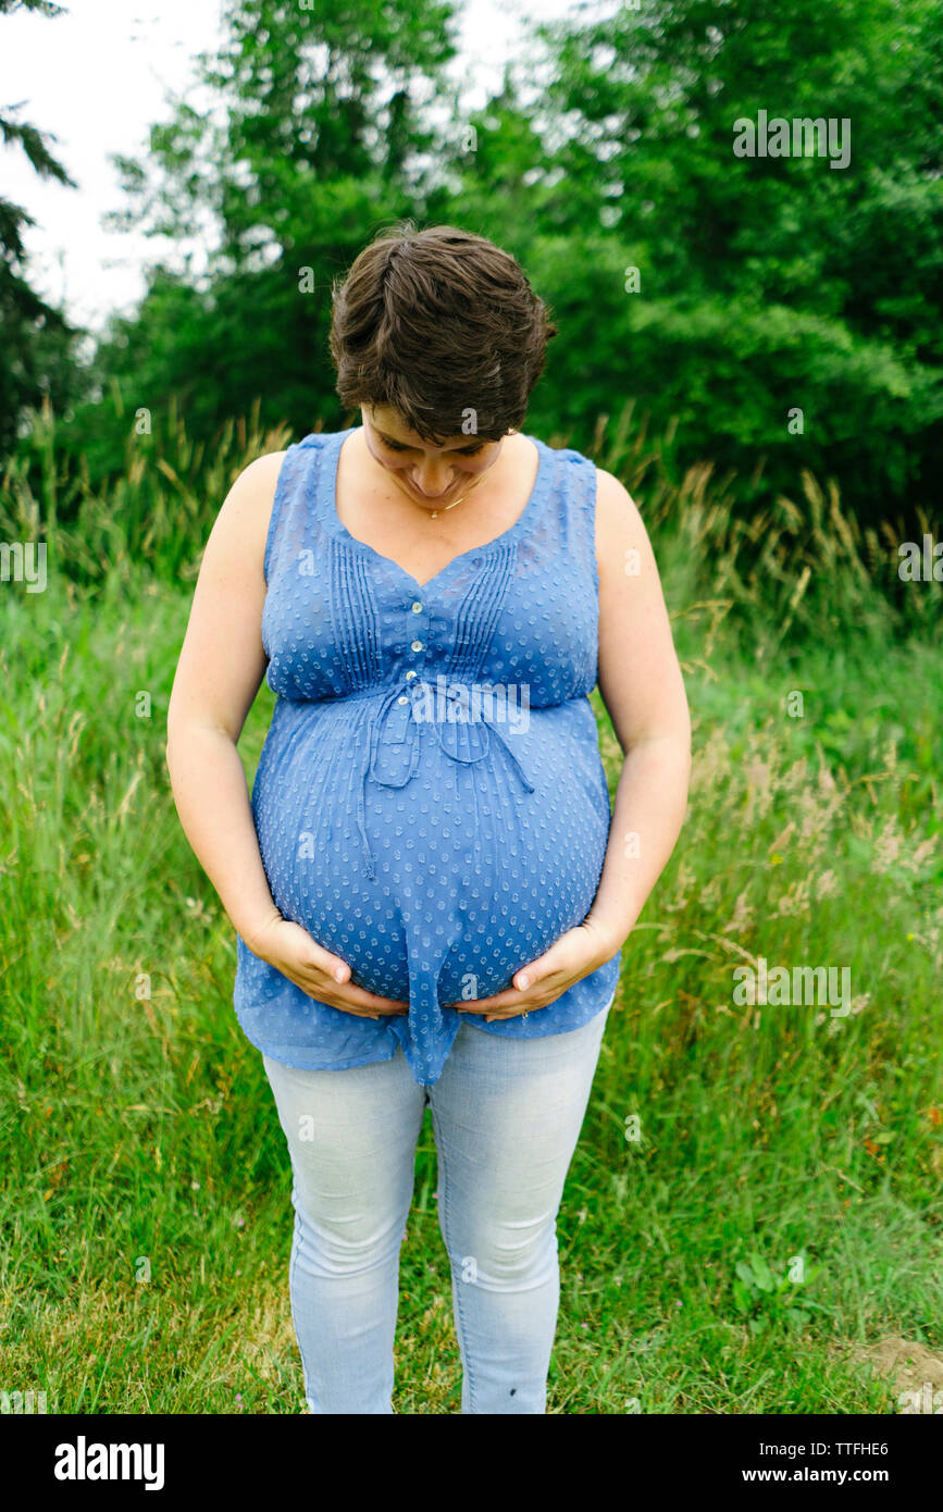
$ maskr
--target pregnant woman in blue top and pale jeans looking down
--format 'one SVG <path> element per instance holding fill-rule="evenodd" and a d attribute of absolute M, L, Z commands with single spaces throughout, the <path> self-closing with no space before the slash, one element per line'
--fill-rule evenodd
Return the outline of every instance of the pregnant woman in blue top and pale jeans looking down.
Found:
<path fill-rule="evenodd" d="M 331 327 L 361 425 L 237 478 L 174 682 L 174 798 L 292 1161 L 316 1414 L 393 1411 L 426 1105 L 461 1411 L 546 1411 L 564 1181 L 621 947 L 683 820 L 688 705 L 639 514 L 520 431 L 553 334 L 484 237 L 372 242 Z M 597 682 L 626 758 L 614 816 Z"/>

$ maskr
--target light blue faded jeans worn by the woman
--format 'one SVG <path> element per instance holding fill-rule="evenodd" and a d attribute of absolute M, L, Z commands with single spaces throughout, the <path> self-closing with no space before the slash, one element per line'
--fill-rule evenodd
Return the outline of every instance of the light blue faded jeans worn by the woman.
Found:
<path fill-rule="evenodd" d="M 413 1080 L 399 1045 L 348 1070 L 263 1055 L 292 1158 L 289 1290 L 310 1412 L 393 1412 L 399 1249 L 426 1104 L 461 1411 L 547 1411 L 556 1214 L 611 1007 L 530 1040 L 461 1024 L 432 1087 Z"/>

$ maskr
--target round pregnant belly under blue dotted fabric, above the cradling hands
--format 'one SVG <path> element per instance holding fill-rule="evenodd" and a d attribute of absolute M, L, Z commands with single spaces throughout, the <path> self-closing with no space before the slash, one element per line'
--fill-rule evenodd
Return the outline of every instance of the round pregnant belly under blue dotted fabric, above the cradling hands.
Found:
<path fill-rule="evenodd" d="M 520 753 L 533 791 L 497 741 L 464 764 L 425 730 L 407 782 L 364 786 L 363 729 L 319 720 L 295 732 L 263 753 L 254 792 L 278 909 L 370 992 L 407 1001 L 417 972 L 434 974 L 440 1002 L 509 987 L 585 919 L 606 851 L 598 748 L 562 723 Z"/>

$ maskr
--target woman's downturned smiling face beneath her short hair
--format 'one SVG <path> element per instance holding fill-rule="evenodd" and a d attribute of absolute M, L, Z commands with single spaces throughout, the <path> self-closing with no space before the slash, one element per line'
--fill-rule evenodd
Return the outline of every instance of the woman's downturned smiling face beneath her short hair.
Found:
<path fill-rule="evenodd" d="M 453 435 L 443 446 L 428 446 L 407 429 L 396 410 L 361 405 L 367 451 L 416 503 L 440 510 L 462 496 L 462 490 L 488 472 L 503 442 L 479 442 L 476 435 Z"/>

